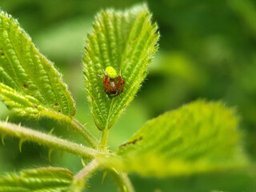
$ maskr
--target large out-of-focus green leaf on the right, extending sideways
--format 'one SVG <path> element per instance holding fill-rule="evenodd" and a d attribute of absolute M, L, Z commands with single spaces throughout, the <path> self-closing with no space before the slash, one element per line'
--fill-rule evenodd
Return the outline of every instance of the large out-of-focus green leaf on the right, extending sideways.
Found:
<path fill-rule="evenodd" d="M 238 117 L 221 102 L 192 102 L 146 122 L 120 146 L 98 156 L 106 167 L 145 176 L 195 174 L 246 166 Z"/>

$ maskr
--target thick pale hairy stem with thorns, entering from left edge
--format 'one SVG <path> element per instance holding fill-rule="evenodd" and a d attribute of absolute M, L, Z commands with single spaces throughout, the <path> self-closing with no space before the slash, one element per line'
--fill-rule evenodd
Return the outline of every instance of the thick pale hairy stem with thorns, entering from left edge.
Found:
<path fill-rule="evenodd" d="M 0 122 L 0 134 L 2 134 L 2 141 L 6 135 L 20 138 L 20 150 L 22 142 L 31 141 L 48 146 L 50 150 L 62 150 L 67 153 L 79 155 L 82 158 L 94 158 L 96 154 L 99 154 L 97 150 L 91 149 L 90 147 L 78 145 L 77 143 L 69 142 L 50 134 L 43 134 L 37 130 L 17 126 L 13 123 Z"/>

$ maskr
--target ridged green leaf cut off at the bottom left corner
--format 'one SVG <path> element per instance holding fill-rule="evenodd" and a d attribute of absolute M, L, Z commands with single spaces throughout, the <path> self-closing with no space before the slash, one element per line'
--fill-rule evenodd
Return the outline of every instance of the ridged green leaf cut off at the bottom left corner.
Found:
<path fill-rule="evenodd" d="M 0 177 L 1 192 L 67 192 L 73 174 L 64 168 L 39 168 L 22 170 L 19 174 Z"/>

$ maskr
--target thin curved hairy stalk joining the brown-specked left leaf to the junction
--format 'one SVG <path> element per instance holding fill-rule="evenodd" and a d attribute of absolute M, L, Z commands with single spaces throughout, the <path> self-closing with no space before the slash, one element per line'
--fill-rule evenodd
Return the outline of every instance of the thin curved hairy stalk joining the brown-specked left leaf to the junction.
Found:
<path fill-rule="evenodd" d="M 71 127 L 73 130 L 76 130 L 79 134 L 86 139 L 86 141 L 92 146 L 94 149 L 98 148 L 98 140 L 94 137 L 93 134 L 90 133 L 89 130 L 86 129 L 85 126 L 82 126 L 80 122 L 78 122 L 75 118 L 70 118 L 63 114 L 55 113 L 54 111 L 50 110 L 42 110 L 40 115 L 47 118 L 56 119 L 58 122 Z"/>

